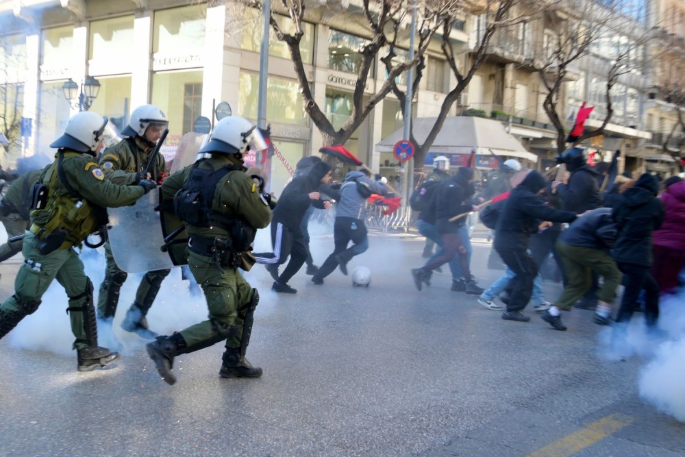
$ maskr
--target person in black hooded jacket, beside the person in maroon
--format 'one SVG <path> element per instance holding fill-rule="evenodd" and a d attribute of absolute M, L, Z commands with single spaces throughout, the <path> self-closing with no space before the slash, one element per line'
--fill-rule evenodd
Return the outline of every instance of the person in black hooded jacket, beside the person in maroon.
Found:
<path fill-rule="evenodd" d="M 659 318 L 659 286 L 651 276 L 651 233 L 664 221 L 664 207 L 656 197 L 659 183 L 649 173 L 621 194 L 613 217 L 619 230 L 612 256 L 623 272 L 623 299 L 616 322 L 630 321 L 640 291 L 645 289 L 645 322 L 655 328 Z"/>

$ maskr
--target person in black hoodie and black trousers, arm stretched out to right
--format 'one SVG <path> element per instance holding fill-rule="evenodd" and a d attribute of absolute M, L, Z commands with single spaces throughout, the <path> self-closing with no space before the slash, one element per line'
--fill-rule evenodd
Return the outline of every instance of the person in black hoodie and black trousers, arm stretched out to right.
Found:
<path fill-rule="evenodd" d="M 543 175 L 530 171 L 523 182 L 512 190 L 497 220 L 495 250 L 516 273 L 508 286 L 510 295 L 502 319 L 530 321 L 530 317 L 521 310 L 530 301 L 538 264 L 527 253 L 527 249 L 530 236 L 538 231 L 540 222 L 572 222 L 577 217 L 575 212 L 556 210 L 545 203 L 538 195 L 545 184 Z"/>

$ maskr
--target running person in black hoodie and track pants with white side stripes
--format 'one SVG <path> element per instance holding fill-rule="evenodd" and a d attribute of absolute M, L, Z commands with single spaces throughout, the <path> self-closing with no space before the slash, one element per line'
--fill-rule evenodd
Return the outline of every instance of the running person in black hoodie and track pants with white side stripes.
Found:
<path fill-rule="evenodd" d="M 316 162 L 306 175 L 292 179 L 283 190 L 271 220 L 271 243 L 273 253 L 255 254 L 257 262 L 266 264 L 266 271 L 273 277 L 271 288 L 276 292 L 297 293 L 288 285 L 290 278 L 299 271 L 307 258 L 307 245 L 301 229 L 302 219 L 310 208 L 328 209 L 329 200 L 321 199 L 319 186 L 328 184 L 333 177 L 331 166 Z M 278 267 L 290 256 L 286 269 L 279 275 Z"/>

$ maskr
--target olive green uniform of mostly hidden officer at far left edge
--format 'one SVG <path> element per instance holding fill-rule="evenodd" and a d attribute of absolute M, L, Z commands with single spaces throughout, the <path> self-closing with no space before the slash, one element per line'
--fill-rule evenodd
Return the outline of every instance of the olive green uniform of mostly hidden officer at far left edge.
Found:
<path fill-rule="evenodd" d="M 8 188 L 0 203 L 0 221 L 5 226 L 7 237 L 12 238 L 23 234 L 29 227 L 29 210 L 25 208 L 25 200 L 32 186 L 38 181 L 42 170 L 29 171 L 18 177 Z M 8 260 L 21 251 L 23 240 L 16 240 L 0 246 L 0 262 Z"/>

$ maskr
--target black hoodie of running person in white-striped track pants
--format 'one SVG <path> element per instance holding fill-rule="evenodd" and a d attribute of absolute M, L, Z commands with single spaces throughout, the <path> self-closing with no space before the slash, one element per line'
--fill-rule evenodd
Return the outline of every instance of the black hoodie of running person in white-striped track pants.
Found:
<path fill-rule="evenodd" d="M 331 166 L 326 162 L 316 162 L 306 175 L 292 178 L 273 210 L 273 221 L 282 223 L 290 230 L 299 230 L 300 222 L 310 205 L 323 209 L 325 200 L 310 200 L 309 194 L 319 191 L 321 178 L 330 170 Z"/>

